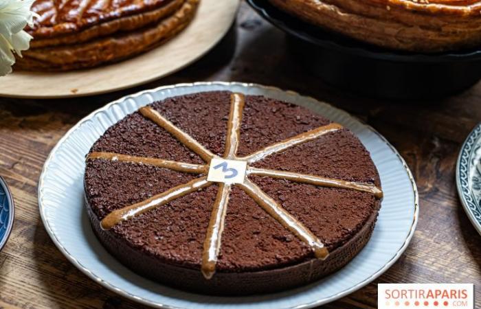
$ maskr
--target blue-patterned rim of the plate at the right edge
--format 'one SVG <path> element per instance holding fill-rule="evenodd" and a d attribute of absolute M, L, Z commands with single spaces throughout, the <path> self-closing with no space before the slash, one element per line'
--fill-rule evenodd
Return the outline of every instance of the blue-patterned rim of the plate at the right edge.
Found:
<path fill-rule="evenodd" d="M 473 146 L 480 140 L 481 138 L 481 123 L 476 124 L 474 128 L 471 130 L 469 135 L 466 137 L 465 141 L 462 143 L 462 146 L 459 151 L 458 155 L 458 160 L 456 161 L 456 189 L 458 190 L 458 196 L 462 205 L 462 208 L 465 209 L 465 213 L 467 214 L 467 217 L 471 221 L 471 224 L 473 227 L 478 231 L 478 233 L 481 235 L 481 221 L 478 221 L 472 212 L 471 207 L 469 205 L 473 205 L 476 207 L 476 204 L 474 204 L 471 198 L 471 196 L 465 194 L 462 192 L 463 187 L 465 187 L 469 192 L 471 192 L 471 189 L 469 188 L 469 161 L 471 158 L 471 150 Z M 466 171 L 462 171 L 461 168 L 462 166 L 462 159 L 466 158 L 467 159 L 467 165 L 466 165 Z M 466 185 L 462 185 L 462 182 L 465 182 Z"/>

